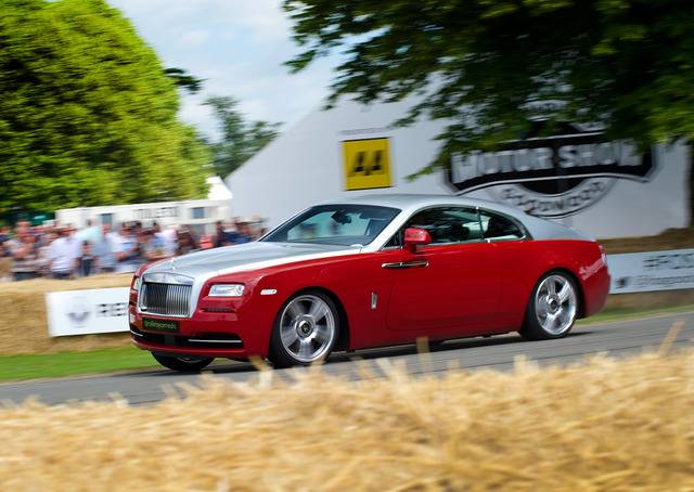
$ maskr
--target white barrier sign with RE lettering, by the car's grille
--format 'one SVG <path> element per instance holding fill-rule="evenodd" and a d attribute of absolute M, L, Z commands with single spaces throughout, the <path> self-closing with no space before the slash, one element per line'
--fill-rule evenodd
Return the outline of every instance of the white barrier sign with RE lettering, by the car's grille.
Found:
<path fill-rule="evenodd" d="M 52 337 L 127 332 L 129 287 L 48 293 L 48 332 Z"/>

